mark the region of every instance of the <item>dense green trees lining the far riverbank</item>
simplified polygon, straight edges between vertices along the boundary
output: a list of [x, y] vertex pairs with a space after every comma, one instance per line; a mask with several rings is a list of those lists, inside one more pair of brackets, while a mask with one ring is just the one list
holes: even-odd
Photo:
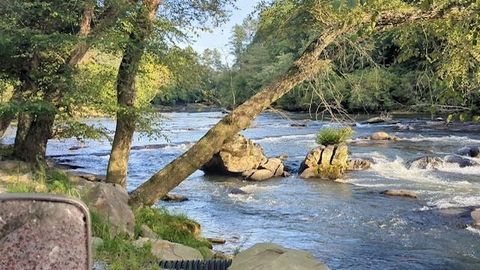
[[[309, 6], [297, 1], [260, 5], [233, 29], [226, 65], [216, 50], [190, 58], [184, 77], [161, 91], [157, 104], [204, 102], [235, 107], [282, 75], [321, 29]], [[448, 2], [448, 1], [447, 1]], [[478, 113], [480, 46], [465, 28], [438, 23], [412, 24], [373, 39], [340, 42], [329, 51], [334, 65], [275, 105], [287, 110], [348, 112], [407, 110]], [[355, 40], [355, 37], [353, 37]], [[341, 48], [341, 49], [339, 49]]]

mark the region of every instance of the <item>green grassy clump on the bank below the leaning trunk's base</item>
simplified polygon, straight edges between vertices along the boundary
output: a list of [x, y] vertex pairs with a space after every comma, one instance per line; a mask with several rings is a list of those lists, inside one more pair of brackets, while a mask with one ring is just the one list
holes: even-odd
[[198, 249], [204, 257], [211, 253], [210, 242], [198, 235], [200, 225], [185, 215], [171, 214], [162, 208], [144, 207], [135, 211], [135, 235], [140, 235], [142, 224], [164, 240]]

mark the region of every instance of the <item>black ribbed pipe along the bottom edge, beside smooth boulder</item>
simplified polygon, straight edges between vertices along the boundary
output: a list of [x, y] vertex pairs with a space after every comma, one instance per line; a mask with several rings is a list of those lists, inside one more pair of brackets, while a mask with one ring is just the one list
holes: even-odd
[[159, 265], [168, 270], [227, 270], [232, 260], [161, 261]]

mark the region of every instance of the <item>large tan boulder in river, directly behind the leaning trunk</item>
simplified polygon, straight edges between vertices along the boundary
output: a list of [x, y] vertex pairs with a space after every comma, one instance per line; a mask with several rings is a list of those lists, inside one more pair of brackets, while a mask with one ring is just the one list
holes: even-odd
[[206, 173], [238, 174], [253, 181], [284, 175], [280, 158], [267, 158], [260, 145], [242, 135], [228, 140], [202, 170]]

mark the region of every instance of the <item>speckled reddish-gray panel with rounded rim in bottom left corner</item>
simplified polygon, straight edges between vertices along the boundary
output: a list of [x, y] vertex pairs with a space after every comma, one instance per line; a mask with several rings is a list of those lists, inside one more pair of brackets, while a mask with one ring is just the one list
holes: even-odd
[[90, 215], [51, 194], [0, 194], [0, 269], [91, 269]]

